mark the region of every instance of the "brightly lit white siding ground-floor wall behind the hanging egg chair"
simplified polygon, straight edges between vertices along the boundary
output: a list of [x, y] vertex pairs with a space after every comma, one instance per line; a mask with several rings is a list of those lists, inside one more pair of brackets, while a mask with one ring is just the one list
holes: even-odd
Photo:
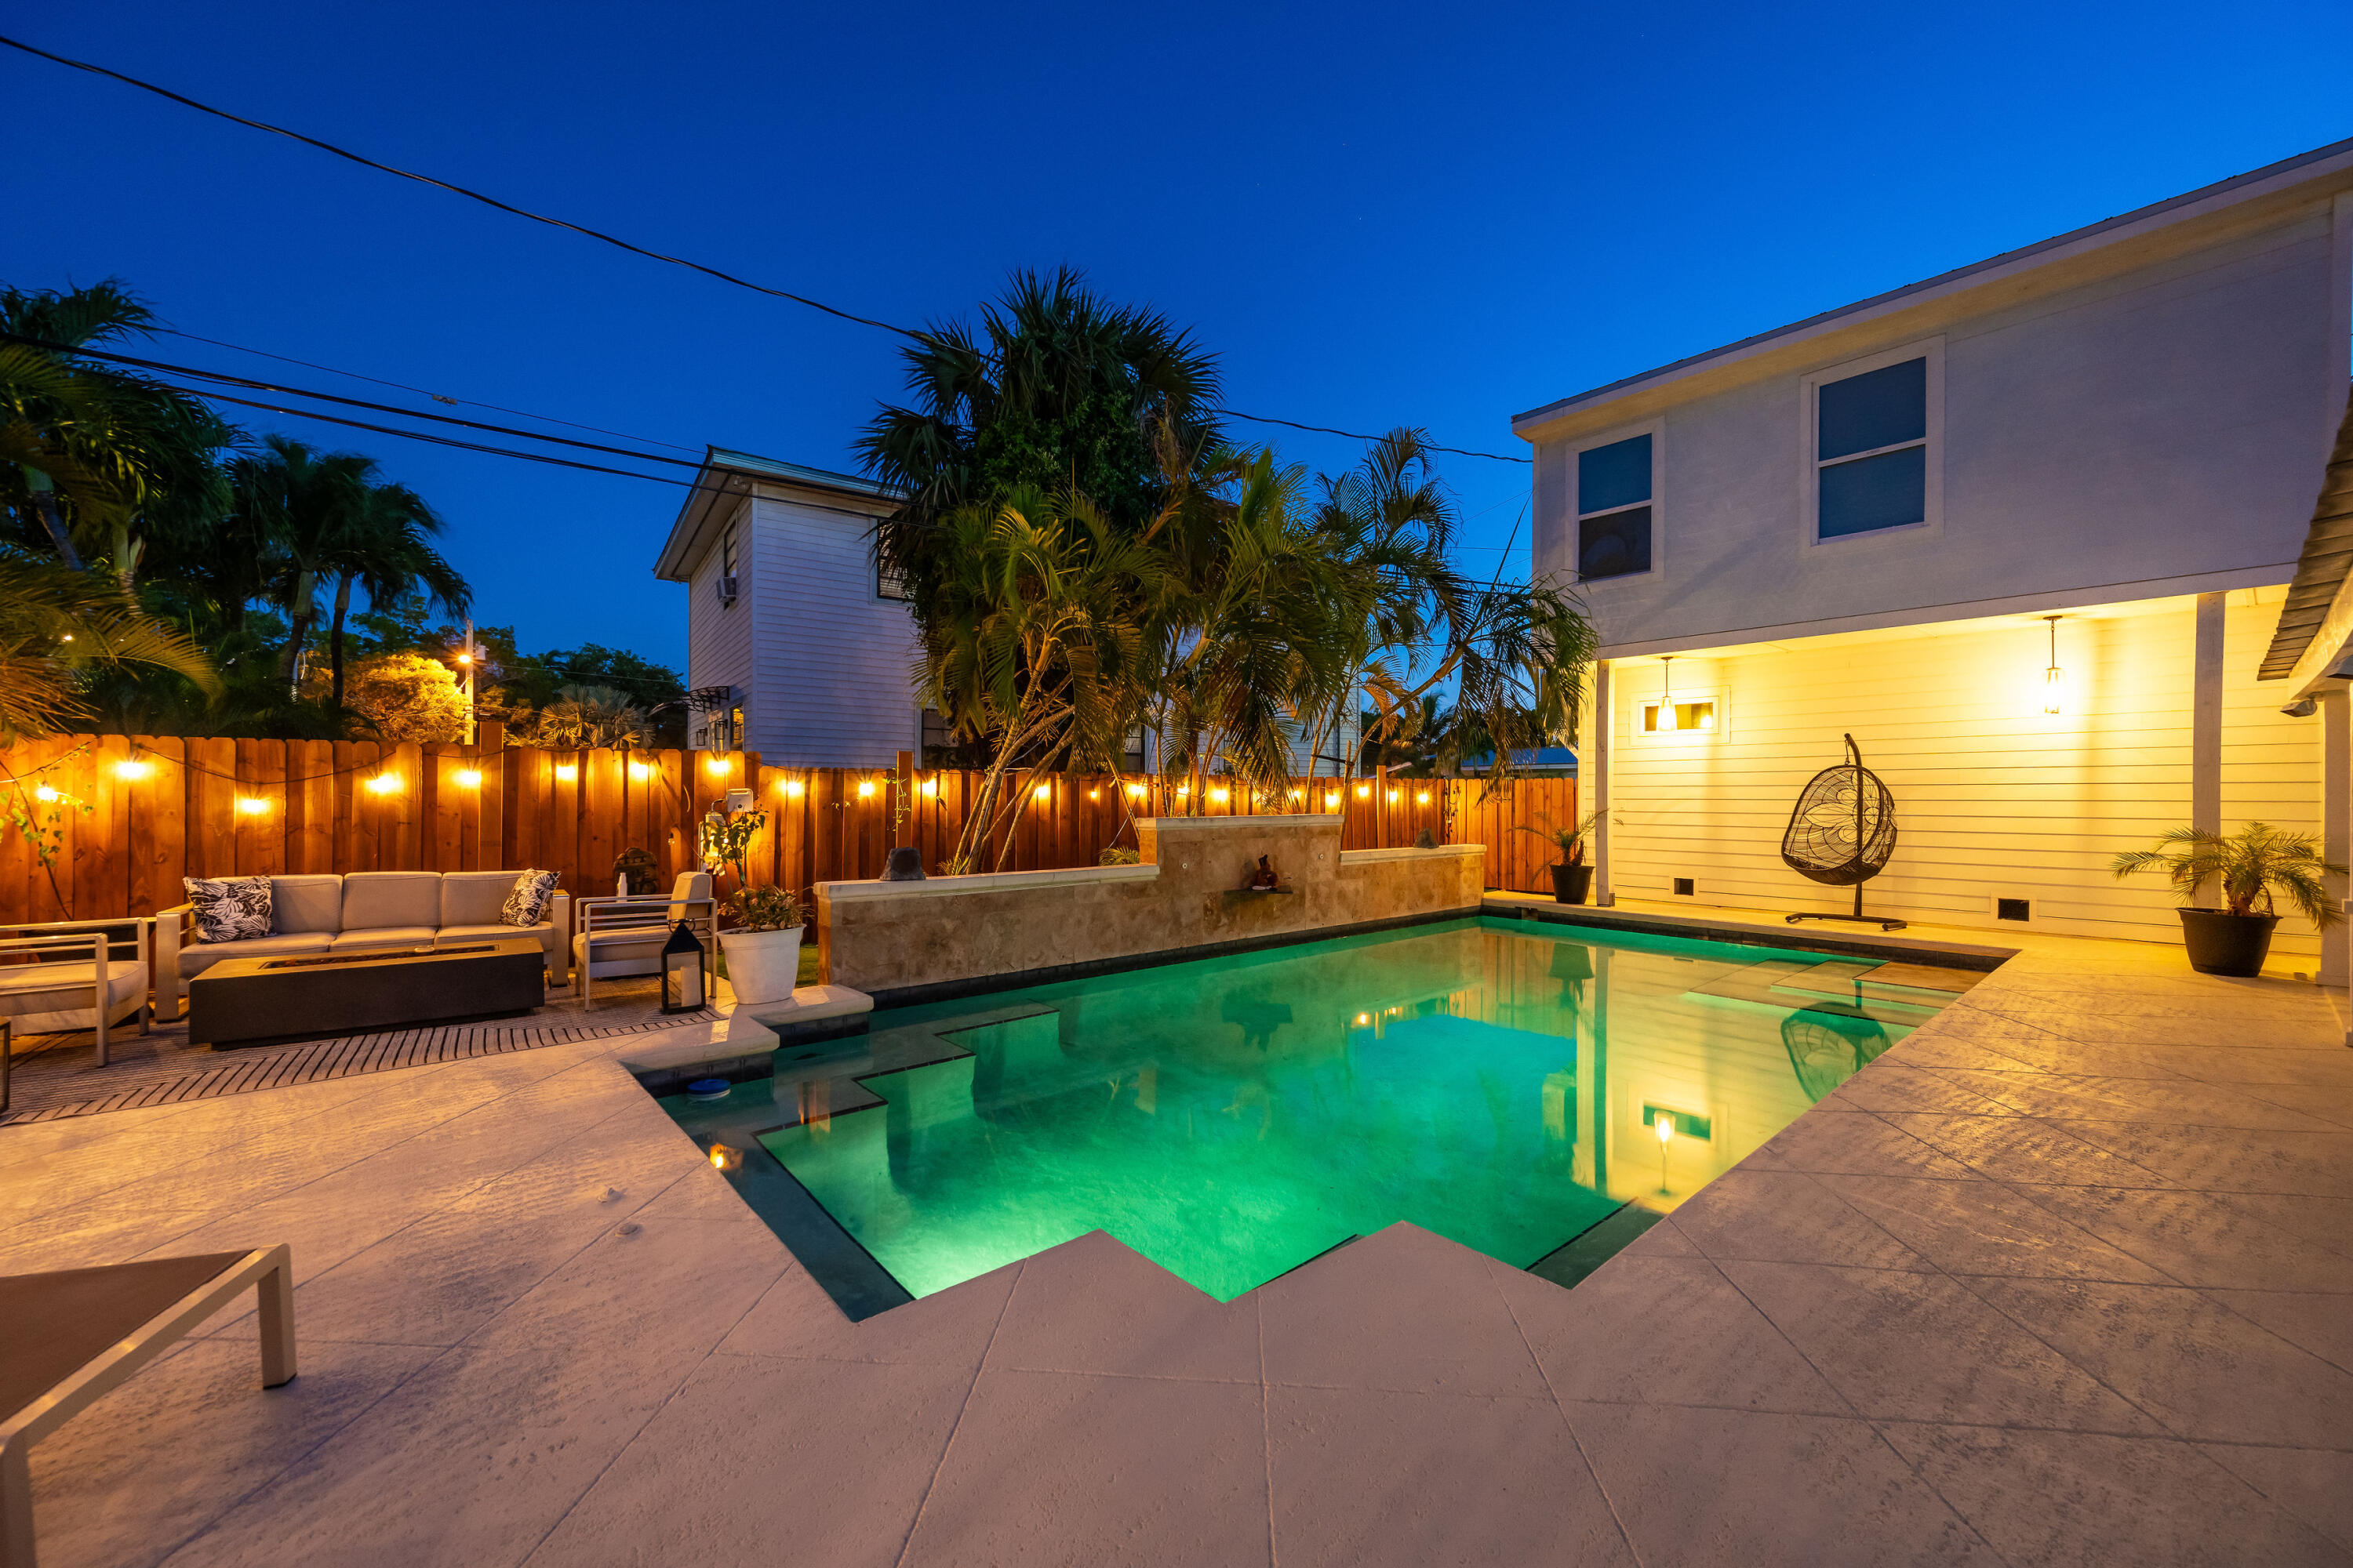
[[[1659, 661], [1617, 663], [1617, 891], [1664, 900], [1673, 877], [1692, 877], [1697, 905], [1847, 907], [1847, 889], [1781, 863], [1781, 830], [1852, 731], [1897, 797], [1897, 856], [1864, 884], [1868, 912], [2002, 929], [1991, 900], [2005, 896], [2033, 900], [2033, 929], [2179, 940], [2165, 884], [2120, 884], [2106, 863], [2188, 823], [2195, 609], [2111, 609], [2134, 614], [2059, 623], [2059, 717], [2042, 712], [2047, 632], [2024, 616], [1675, 658], [1678, 701], [1718, 701], [1713, 736], [1645, 741]], [[2247, 818], [2320, 825], [2320, 719], [2280, 715], [2285, 686], [2254, 679], [2278, 614], [2280, 590], [2233, 592], [2226, 611], [2226, 832]], [[2318, 952], [2304, 922], [2282, 924], [2278, 947]]]

